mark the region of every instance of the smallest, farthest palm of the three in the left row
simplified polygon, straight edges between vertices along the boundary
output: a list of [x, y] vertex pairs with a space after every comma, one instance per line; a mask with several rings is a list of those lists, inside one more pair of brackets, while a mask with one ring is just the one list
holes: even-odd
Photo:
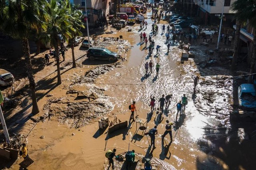
[[81, 36], [82, 32], [80, 31], [81, 28], [85, 28], [82, 22], [82, 12], [81, 10], [77, 10], [75, 6], [71, 7], [71, 14], [70, 14], [70, 22], [72, 27], [70, 27], [71, 33], [71, 50], [72, 50], [72, 61], [73, 61], [73, 68], [76, 67], [76, 59], [75, 59], [75, 52], [74, 52], [74, 42], [76, 36]]

